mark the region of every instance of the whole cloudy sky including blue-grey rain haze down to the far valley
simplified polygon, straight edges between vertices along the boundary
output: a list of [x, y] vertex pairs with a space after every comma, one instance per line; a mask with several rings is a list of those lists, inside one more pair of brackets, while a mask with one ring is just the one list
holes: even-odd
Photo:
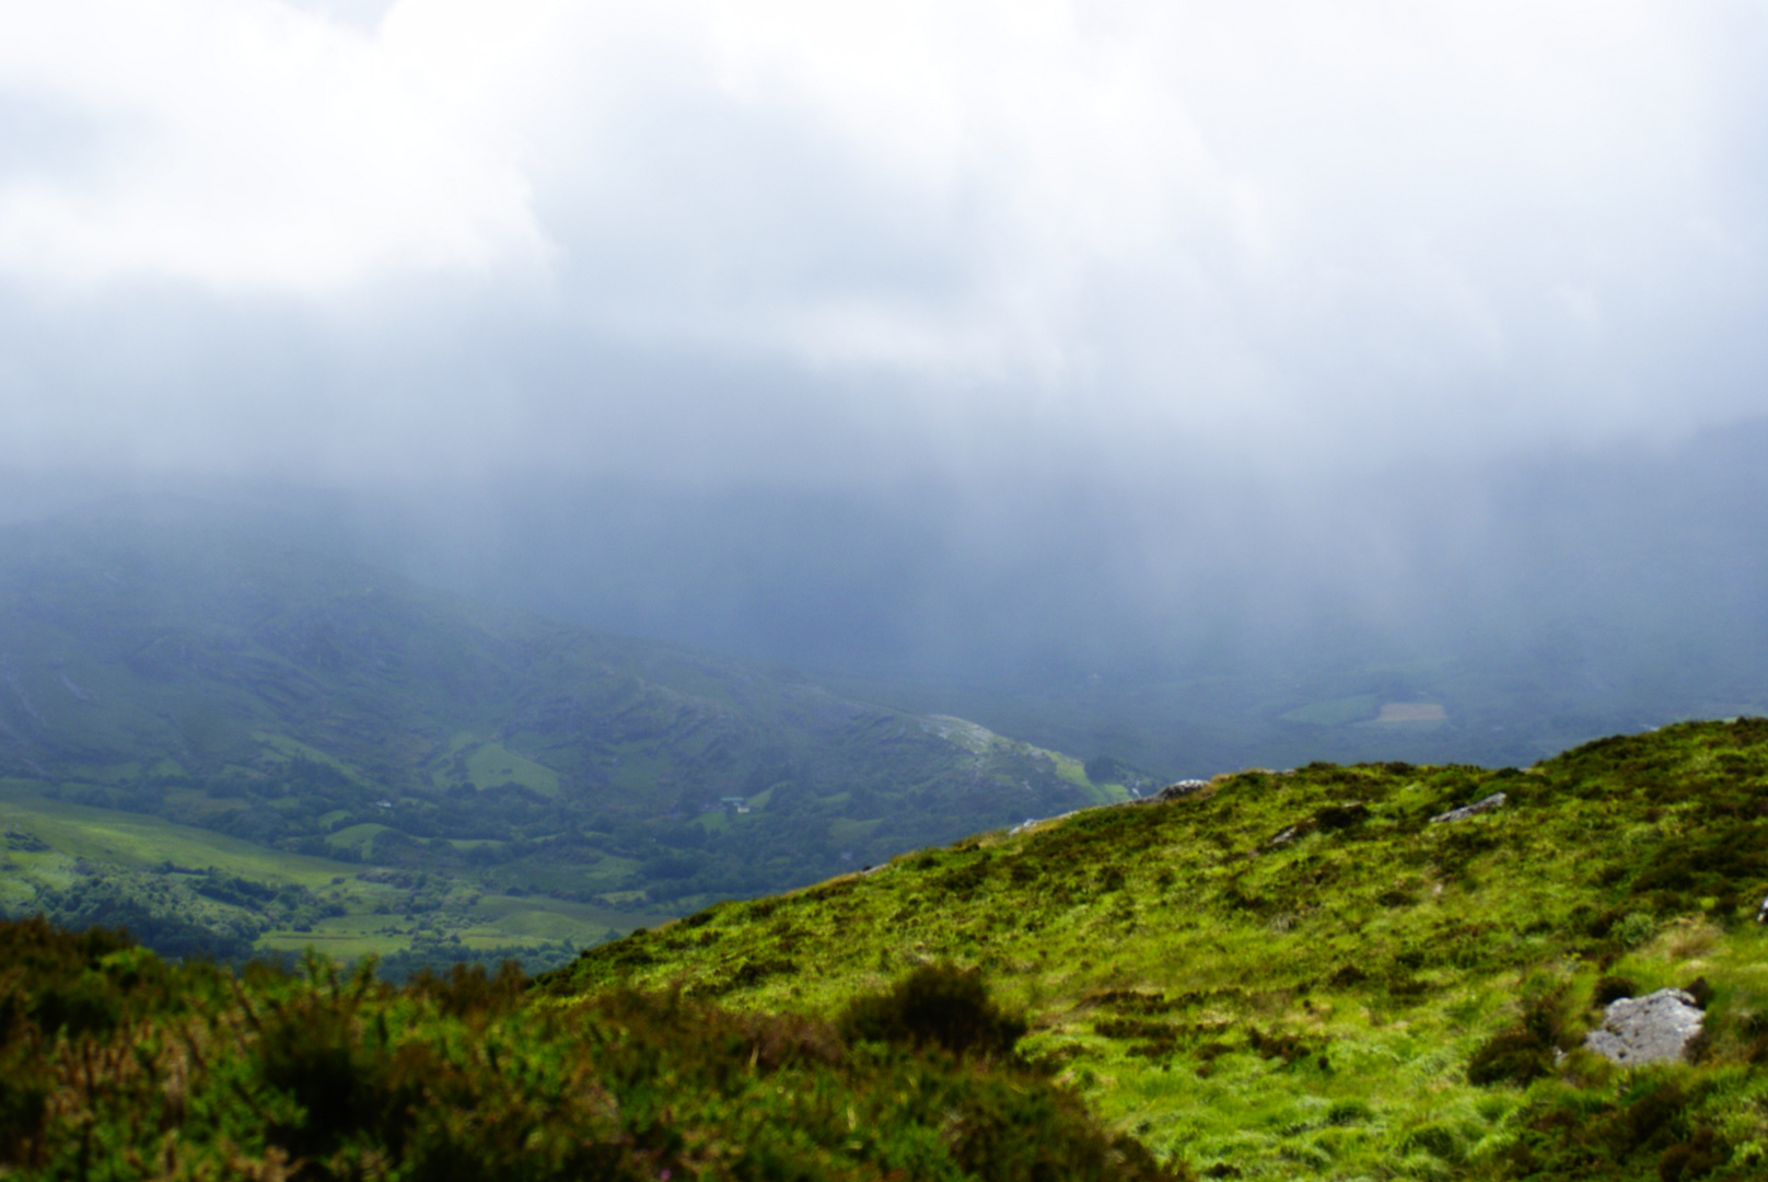
[[325, 490], [833, 664], [1487, 635], [1650, 518], [1627, 600], [1665, 503], [1747, 616], [1703, 457], [1768, 416], [1764, 51], [1745, 2], [0, 0], [0, 471]]

